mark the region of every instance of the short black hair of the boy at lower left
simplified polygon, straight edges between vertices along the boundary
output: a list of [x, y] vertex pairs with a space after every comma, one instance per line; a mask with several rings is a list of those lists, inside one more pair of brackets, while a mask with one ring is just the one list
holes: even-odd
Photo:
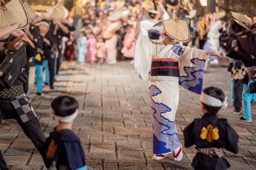
[[72, 115], [78, 109], [78, 102], [72, 96], [58, 96], [51, 102], [51, 108], [56, 116], [65, 117]]

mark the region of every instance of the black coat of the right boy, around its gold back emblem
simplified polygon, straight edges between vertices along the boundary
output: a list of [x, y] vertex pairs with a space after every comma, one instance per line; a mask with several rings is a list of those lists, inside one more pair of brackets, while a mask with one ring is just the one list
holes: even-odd
[[[207, 129], [211, 124], [212, 128], [218, 129], [219, 137], [211, 142], [201, 138], [201, 131]], [[216, 130], [215, 129], [215, 130]], [[184, 129], [185, 147], [196, 145], [199, 148], [216, 147], [225, 148], [226, 150], [238, 153], [238, 134], [227, 123], [227, 119], [218, 118], [215, 115], [204, 114], [202, 118], [194, 121]], [[194, 169], [227, 169], [230, 164], [225, 158], [208, 157], [203, 153], [197, 153], [193, 158], [192, 167]]]

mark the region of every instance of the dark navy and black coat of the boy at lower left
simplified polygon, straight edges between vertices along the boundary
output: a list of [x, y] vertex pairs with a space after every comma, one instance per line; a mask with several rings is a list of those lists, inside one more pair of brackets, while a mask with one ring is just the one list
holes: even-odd
[[51, 132], [46, 139], [45, 151], [47, 168], [52, 165], [52, 161], [57, 161], [57, 169], [60, 165], [70, 169], [85, 166], [85, 154], [80, 139], [69, 129]]

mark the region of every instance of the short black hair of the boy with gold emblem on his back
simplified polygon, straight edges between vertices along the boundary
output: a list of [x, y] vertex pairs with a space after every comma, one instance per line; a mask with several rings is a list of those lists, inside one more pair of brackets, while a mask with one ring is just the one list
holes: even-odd
[[[225, 101], [225, 94], [223, 90], [217, 87], [207, 87], [203, 90], [203, 93], [210, 95], [212, 97], [218, 98], [221, 102]], [[205, 109], [208, 111], [208, 114], [216, 115], [221, 107], [212, 107], [210, 105], [204, 104]]]

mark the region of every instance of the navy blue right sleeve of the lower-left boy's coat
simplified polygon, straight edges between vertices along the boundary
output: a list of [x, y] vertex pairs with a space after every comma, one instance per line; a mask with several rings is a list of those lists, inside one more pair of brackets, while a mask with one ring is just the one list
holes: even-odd
[[75, 170], [84, 167], [85, 155], [81, 143], [78, 141], [63, 141], [63, 145], [66, 148], [66, 153], [68, 154], [70, 169]]

